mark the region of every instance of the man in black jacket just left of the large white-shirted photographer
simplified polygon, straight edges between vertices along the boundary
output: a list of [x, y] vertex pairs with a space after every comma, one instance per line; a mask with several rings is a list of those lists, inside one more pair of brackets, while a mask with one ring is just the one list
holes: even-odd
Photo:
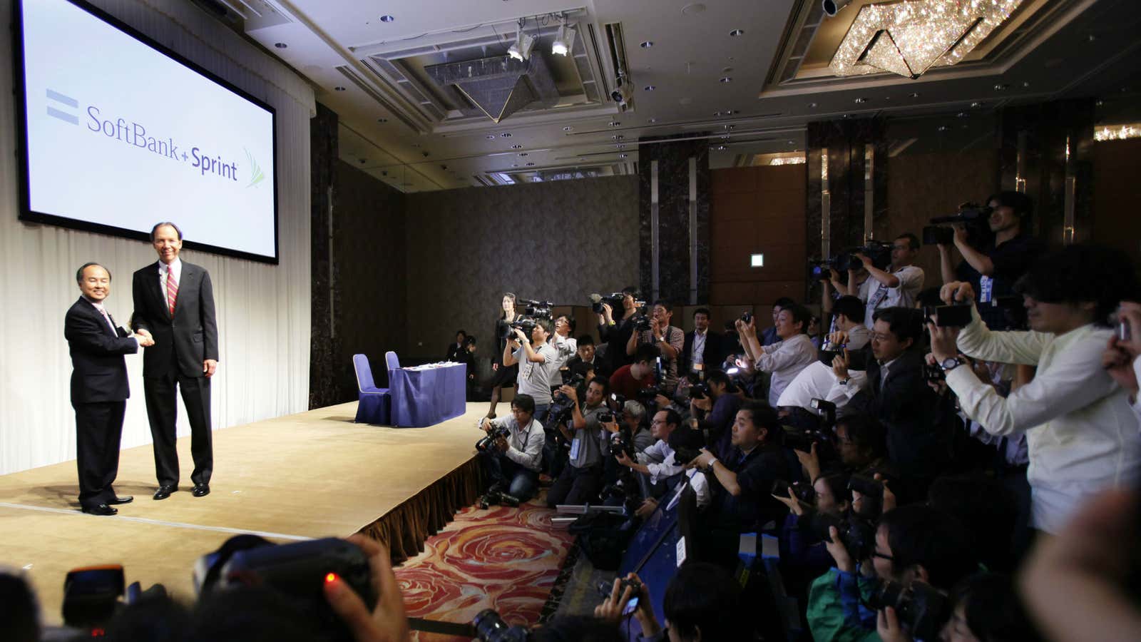
[[[883, 424], [888, 433], [888, 454], [908, 478], [914, 493], [926, 485], [948, 464], [949, 423], [953, 402], [940, 398], [923, 378], [922, 313], [909, 307], [888, 307], [875, 313], [872, 355], [866, 385], [853, 382], [861, 375], [848, 372], [843, 363], [834, 370], [843, 388], [851, 392], [853, 411], [866, 411]], [[855, 392], [863, 388], [860, 392]]]

